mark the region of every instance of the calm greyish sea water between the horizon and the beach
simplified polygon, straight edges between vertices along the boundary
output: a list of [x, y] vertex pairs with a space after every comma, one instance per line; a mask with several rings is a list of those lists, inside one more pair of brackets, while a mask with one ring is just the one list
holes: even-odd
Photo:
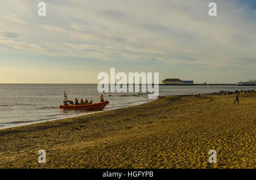
[[[237, 86], [159, 86], [159, 96], [196, 95], [218, 91], [255, 89]], [[97, 84], [0, 84], [0, 128], [22, 126], [30, 123], [52, 121], [60, 118], [75, 117], [86, 113], [84, 110], [61, 110], [63, 92], [69, 100], [87, 98], [100, 102]], [[134, 94], [136, 96], [134, 96]], [[125, 108], [146, 103], [148, 95], [138, 93], [103, 93], [110, 103], [104, 110]], [[110, 96], [111, 95], [111, 96]]]

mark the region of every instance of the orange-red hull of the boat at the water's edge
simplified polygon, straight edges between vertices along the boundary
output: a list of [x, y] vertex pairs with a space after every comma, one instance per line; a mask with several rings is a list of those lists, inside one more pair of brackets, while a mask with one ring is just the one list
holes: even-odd
[[102, 110], [108, 104], [109, 104], [109, 101], [104, 101], [104, 102], [98, 102], [95, 104], [60, 105], [59, 108], [64, 110]]

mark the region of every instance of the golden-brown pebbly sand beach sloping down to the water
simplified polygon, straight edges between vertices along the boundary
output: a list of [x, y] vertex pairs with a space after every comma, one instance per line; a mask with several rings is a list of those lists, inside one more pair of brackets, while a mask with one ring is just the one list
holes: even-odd
[[[256, 93], [147, 104], [0, 130], [0, 168], [256, 168]], [[38, 151], [46, 151], [46, 164]], [[217, 163], [208, 152], [215, 149]]]

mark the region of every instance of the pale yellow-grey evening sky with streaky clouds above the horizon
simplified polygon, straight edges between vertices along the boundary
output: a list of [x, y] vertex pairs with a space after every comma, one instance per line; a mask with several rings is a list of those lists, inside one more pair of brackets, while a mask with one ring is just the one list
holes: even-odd
[[98, 83], [111, 67], [159, 82], [247, 81], [255, 32], [253, 0], [1, 0], [0, 83]]

